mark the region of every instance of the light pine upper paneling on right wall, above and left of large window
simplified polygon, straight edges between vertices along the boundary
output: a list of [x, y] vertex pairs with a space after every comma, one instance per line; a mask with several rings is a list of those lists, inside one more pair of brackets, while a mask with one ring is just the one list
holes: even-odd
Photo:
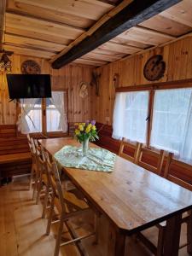
[[[143, 76], [143, 67], [148, 58], [155, 54], [163, 55], [166, 61], [166, 73], [159, 82], [175, 81], [192, 78], [192, 37], [183, 38], [164, 47], [145, 51], [141, 55], [134, 55], [122, 61], [116, 61], [98, 67], [101, 73], [100, 96], [92, 95], [96, 106], [92, 108], [92, 118], [102, 124], [112, 125], [113, 101], [115, 90], [113, 87], [113, 74], [119, 73], [119, 87], [139, 84], [149, 84]], [[151, 82], [152, 83], [152, 82]], [[108, 119], [109, 117], [109, 119]]]

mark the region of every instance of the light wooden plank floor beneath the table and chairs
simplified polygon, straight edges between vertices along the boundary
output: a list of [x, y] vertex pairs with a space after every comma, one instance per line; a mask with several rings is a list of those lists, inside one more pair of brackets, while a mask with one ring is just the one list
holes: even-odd
[[[0, 188], [0, 256], [52, 256], [54, 254], [56, 225], [53, 225], [50, 235], [45, 236], [47, 219], [41, 218], [41, 214], [42, 205], [35, 205], [32, 201], [32, 191], [28, 190], [26, 177], [17, 177], [12, 183]], [[92, 225], [92, 218], [88, 216], [83, 218], [90, 221], [90, 225], [84, 226], [84, 230], [88, 231]], [[77, 227], [78, 222], [79, 219], [74, 219]], [[84, 232], [84, 230], [79, 230], [79, 232]], [[183, 230], [181, 242], [185, 240], [185, 233]], [[66, 231], [65, 239], [67, 236], [69, 234]], [[103, 255], [103, 246], [94, 245], [93, 241], [94, 237], [84, 240], [88, 255], [108, 256]], [[151, 255], [138, 241], [132, 241], [129, 247], [131, 249], [129, 256]], [[79, 256], [80, 254], [74, 245], [68, 245], [61, 247], [61, 255]], [[186, 247], [179, 251], [179, 255], [189, 255], [186, 253]]]

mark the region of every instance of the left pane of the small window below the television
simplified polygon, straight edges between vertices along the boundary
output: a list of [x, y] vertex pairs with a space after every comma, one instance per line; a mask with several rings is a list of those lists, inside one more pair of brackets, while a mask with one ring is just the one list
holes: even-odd
[[42, 131], [42, 108], [41, 99], [25, 99], [22, 105], [22, 112], [25, 113], [26, 123], [29, 132]]

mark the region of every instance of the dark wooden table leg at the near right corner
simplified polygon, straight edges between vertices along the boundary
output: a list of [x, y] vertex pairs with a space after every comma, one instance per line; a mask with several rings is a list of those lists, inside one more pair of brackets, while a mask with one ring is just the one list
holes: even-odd
[[182, 215], [177, 214], [166, 220], [164, 256], [177, 256], [181, 233]]

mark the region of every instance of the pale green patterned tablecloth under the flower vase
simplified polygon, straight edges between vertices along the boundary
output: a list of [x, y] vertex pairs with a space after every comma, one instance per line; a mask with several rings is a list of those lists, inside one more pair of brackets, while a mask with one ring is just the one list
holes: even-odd
[[116, 154], [104, 148], [89, 148], [88, 154], [83, 156], [81, 147], [65, 146], [54, 157], [60, 166], [112, 172]]

